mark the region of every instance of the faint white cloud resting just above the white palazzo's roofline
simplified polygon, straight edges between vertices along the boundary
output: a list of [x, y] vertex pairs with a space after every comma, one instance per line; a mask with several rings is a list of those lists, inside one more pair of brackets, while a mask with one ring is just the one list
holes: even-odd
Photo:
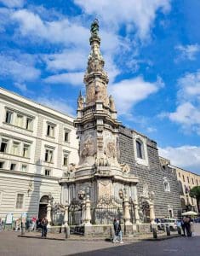
[[62, 113], [66, 113], [66, 114], [70, 114], [75, 116], [75, 109], [73, 109], [71, 107], [71, 105], [69, 105], [66, 101], [64, 101], [61, 98], [51, 98], [51, 97], [45, 97], [45, 96], [40, 96], [37, 97], [36, 99], [37, 102], [40, 102], [41, 104], [49, 107], [49, 108], [53, 108], [56, 109]]

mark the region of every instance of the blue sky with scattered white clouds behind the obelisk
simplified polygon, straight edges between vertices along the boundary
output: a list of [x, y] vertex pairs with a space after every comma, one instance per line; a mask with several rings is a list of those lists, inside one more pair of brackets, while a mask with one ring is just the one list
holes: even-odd
[[76, 114], [100, 21], [118, 119], [200, 173], [200, 1], [0, 0], [0, 86]]

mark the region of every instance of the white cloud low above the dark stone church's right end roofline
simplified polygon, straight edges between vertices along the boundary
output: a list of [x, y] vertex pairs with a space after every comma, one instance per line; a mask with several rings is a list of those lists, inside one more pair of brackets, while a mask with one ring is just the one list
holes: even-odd
[[172, 165], [200, 174], [200, 147], [185, 145], [158, 149], [159, 155], [169, 159]]

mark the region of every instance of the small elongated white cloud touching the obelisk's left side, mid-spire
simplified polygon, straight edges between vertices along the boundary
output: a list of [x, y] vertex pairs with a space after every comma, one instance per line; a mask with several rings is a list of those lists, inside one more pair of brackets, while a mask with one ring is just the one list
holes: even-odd
[[81, 85], [83, 84], [82, 72], [74, 73], [60, 73], [56, 75], [49, 76], [44, 79], [45, 83], [49, 84], [71, 84], [71, 85]]

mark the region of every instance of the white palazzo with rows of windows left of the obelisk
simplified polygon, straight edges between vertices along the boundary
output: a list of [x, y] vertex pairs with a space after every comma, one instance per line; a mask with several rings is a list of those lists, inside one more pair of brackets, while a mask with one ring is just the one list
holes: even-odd
[[0, 88], [0, 218], [43, 217], [51, 194], [77, 163], [73, 118]]

